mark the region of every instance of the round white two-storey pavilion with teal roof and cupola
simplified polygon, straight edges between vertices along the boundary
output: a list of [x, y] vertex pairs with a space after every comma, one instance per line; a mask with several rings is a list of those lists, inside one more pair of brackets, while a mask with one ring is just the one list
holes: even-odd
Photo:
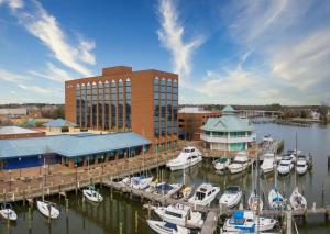
[[245, 151], [255, 141], [254, 127], [249, 119], [241, 119], [227, 105], [221, 118], [210, 118], [201, 127], [200, 138], [215, 151]]

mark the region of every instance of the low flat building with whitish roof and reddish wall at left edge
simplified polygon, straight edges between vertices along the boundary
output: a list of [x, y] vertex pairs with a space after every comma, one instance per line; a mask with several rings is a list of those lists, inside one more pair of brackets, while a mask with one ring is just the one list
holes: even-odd
[[[26, 138], [45, 136], [44, 132], [28, 130], [19, 126], [0, 126], [0, 140], [3, 138]], [[0, 149], [1, 154], [1, 149]]]

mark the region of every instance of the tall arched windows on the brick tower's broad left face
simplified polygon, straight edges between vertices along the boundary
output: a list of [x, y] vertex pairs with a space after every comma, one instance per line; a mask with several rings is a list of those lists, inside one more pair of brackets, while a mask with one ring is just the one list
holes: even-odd
[[76, 122], [82, 127], [131, 127], [131, 80], [76, 87]]

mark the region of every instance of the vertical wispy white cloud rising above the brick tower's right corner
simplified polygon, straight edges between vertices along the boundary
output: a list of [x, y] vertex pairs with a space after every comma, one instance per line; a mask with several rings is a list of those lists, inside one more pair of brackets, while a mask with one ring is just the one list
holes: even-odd
[[161, 0], [158, 12], [162, 24], [162, 29], [157, 31], [158, 38], [172, 53], [175, 73], [180, 78], [187, 78], [191, 71], [191, 55], [202, 44], [202, 37], [184, 42], [184, 26], [178, 21], [178, 12], [172, 0]]

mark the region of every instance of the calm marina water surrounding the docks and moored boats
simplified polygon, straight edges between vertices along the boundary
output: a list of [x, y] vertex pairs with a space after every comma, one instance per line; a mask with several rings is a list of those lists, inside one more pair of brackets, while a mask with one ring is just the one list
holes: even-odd
[[[311, 127], [296, 127], [276, 124], [257, 124], [255, 125], [258, 141], [271, 133], [275, 138], [285, 141], [284, 151], [295, 148], [296, 133], [298, 135], [298, 148], [306, 155], [309, 153], [314, 156], [314, 169], [302, 177], [297, 177], [297, 186], [307, 197], [309, 207], [316, 202], [317, 207], [330, 204], [330, 169], [328, 168], [327, 156], [330, 155], [330, 126], [314, 125]], [[176, 182], [183, 181], [183, 171], [170, 172], [162, 169], [164, 179]], [[186, 171], [186, 181], [191, 185], [199, 185], [204, 181], [212, 182], [223, 191], [228, 185], [239, 185], [245, 191], [245, 200], [252, 189], [251, 171], [244, 175], [229, 176], [217, 175], [209, 161], [190, 168]], [[274, 185], [274, 175], [268, 175], [261, 181], [262, 191], [267, 193]], [[295, 185], [295, 176], [292, 174], [286, 177], [278, 177], [278, 187], [283, 194], [289, 196]], [[322, 193], [323, 187], [323, 193]], [[28, 207], [18, 203], [14, 209], [18, 212], [19, 220], [16, 223], [8, 226], [7, 222], [1, 220], [0, 233], [154, 233], [146, 225], [145, 219], [147, 211], [142, 208], [138, 198], [130, 199], [125, 194], [116, 192], [109, 188], [100, 188], [105, 201], [99, 204], [85, 202], [82, 205], [81, 193], [76, 196], [69, 194], [69, 211], [65, 211], [64, 199], [57, 197], [50, 200], [59, 203], [62, 215], [58, 220], [48, 224], [47, 220], [41, 215], [37, 209], [31, 212], [32, 219], [29, 218]], [[112, 194], [112, 196], [111, 196]], [[220, 194], [218, 196], [218, 198]], [[212, 204], [217, 205], [218, 200]], [[138, 223], [135, 214], [138, 212]], [[156, 218], [151, 213], [152, 218]], [[296, 220], [299, 233], [330, 233], [330, 221], [326, 221], [323, 215], [309, 216], [305, 222]]]

